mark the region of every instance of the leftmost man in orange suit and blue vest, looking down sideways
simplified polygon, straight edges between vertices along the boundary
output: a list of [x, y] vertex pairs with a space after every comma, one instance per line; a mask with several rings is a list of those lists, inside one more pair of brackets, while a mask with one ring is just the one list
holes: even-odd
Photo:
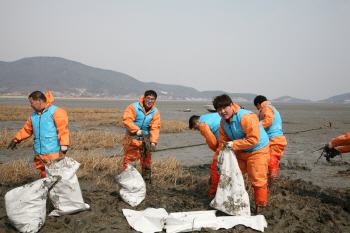
[[49, 91], [44, 95], [40, 91], [28, 97], [34, 112], [23, 128], [15, 135], [7, 149], [16, 149], [17, 144], [34, 134], [34, 165], [41, 170], [45, 178], [45, 164], [53, 159], [65, 156], [69, 146], [67, 112], [52, 105], [54, 99]]

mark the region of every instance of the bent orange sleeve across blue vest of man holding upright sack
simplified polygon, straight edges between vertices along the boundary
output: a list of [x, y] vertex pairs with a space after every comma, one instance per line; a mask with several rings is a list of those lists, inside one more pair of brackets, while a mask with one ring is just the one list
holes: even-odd
[[241, 126], [246, 137], [233, 141], [235, 150], [245, 150], [256, 146], [260, 140], [259, 119], [254, 113], [245, 114], [241, 118]]

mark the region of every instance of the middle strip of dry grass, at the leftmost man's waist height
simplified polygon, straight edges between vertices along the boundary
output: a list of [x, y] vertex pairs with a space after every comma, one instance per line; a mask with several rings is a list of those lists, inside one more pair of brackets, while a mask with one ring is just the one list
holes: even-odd
[[[0, 147], [7, 147], [17, 132], [0, 131]], [[111, 148], [121, 144], [124, 140], [124, 133], [95, 131], [78, 131], [71, 132], [70, 149], [93, 149], [93, 148]], [[31, 138], [22, 141], [17, 147], [33, 147]]]

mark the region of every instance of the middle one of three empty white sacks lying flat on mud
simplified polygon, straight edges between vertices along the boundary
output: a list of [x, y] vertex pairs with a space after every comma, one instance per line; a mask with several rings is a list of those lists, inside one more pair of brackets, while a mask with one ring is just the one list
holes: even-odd
[[216, 210], [178, 212], [166, 219], [167, 233], [200, 231], [202, 227], [218, 229]]

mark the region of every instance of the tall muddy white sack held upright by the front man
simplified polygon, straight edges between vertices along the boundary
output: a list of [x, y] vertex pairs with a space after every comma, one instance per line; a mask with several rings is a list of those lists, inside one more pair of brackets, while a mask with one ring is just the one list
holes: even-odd
[[217, 166], [220, 169], [220, 180], [210, 206], [230, 215], [250, 216], [249, 195], [233, 151], [221, 150]]

